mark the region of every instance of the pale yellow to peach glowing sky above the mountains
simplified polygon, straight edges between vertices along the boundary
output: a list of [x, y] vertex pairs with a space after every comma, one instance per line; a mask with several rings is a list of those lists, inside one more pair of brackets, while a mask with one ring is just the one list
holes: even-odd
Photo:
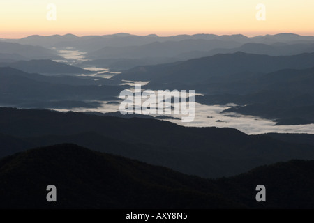
[[[260, 4], [264, 8], [256, 8]], [[66, 33], [314, 36], [313, 10], [313, 0], [1, 0], [0, 38]]]

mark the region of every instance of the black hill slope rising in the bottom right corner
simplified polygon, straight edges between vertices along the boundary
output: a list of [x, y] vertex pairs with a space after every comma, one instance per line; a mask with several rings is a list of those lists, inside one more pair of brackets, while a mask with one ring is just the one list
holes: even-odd
[[[314, 206], [314, 162], [291, 160], [257, 167], [248, 173], [218, 180], [220, 188], [232, 188], [235, 201], [246, 199], [251, 208], [312, 209]], [[230, 184], [229, 184], [230, 183]], [[255, 201], [256, 185], [266, 187], [266, 202]], [[254, 198], [253, 198], [254, 197]]]

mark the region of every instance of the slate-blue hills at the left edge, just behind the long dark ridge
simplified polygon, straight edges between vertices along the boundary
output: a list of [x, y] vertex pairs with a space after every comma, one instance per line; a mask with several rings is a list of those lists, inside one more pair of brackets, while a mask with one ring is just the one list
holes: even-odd
[[[30, 66], [30, 69], [34, 68]], [[121, 86], [112, 86], [107, 79], [45, 76], [10, 67], [0, 68], [1, 106], [54, 109], [99, 107], [97, 100], [107, 100], [119, 95], [122, 90]]]

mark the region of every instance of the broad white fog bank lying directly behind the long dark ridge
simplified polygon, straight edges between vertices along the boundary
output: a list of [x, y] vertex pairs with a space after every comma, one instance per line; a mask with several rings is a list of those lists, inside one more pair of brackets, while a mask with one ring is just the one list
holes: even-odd
[[[75, 108], [74, 112], [117, 112], [119, 111], [120, 103], [107, 104], [107, 102], [101, 102], [101, 106], [94, 109]], [[220, 128], [236, 128], [246, 134], [262, 134], [267, 132], [281, 132], [281, 133], [308, 133], [314, 134], [314, 124], [310, 125], [275, 125], [274, 121], [255, 117], [245, 116], [234, 113], [223, 113], [224, 109], [229, 108], [227, 105], [202, 105], [195, 102], [195, 118], [192, 122], [182, 122], [177, 119], [167, 119], [173, 123], [184, 126], [194, 127], [209, 127], [216, 126]], [[58, 111], [66, 112], [66, 109], [57, 109]], [[157, 115], [152, 115], [157, 116]], [[181, 118], [179, 115], [167, 115], [176, 118]]]

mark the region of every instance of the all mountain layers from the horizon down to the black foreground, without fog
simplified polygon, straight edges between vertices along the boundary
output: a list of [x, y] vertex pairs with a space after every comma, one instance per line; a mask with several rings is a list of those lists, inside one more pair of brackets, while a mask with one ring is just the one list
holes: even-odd
[[[86, 59], [63, 58], [61, 49]], [[102, 113], [133, 87], [127, 81], [195, 90], [202, 107], [229, 104], [225, 116], [313, 124], [314, 36], [1, 39], [0, 208], [314, 207], [313, 134], [249, 135]], [[50, 184], [57, 203], [45, 200]], [[267, 202], [255, 200], [257, 185]]]

